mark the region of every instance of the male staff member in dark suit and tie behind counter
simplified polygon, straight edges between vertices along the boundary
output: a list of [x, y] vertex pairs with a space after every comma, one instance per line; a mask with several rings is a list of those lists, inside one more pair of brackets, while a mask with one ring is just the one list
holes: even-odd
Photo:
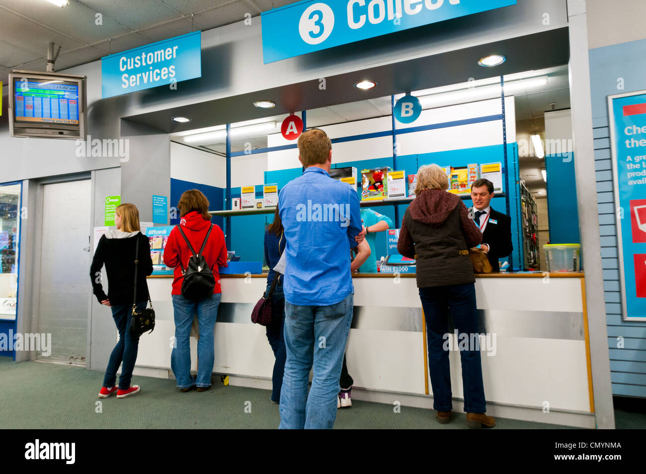
[[494, 183], [490, 180], [481, 178], [471, 185], [474, 222], [483, 233], [481, 248], [486, 252], [494, 272], [499, 272], [498, 259], [507, 257], [514, 250], [512, 219], [490, 206], [492, 197], [494, 197]]

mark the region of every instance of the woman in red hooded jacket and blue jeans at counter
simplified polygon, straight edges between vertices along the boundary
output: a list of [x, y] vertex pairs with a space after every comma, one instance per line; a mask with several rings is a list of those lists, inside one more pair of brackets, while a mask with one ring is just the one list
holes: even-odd
[[[177, 387], [182, 392], [189, 391], [193, 386], [198, 392], [211, 387], [213, 374], [214, 349], [213, 328], [220, 305], [220, 272], [218, 266], [227, 266], [227, 246], [224, 233], [220, 227], [211, 224], [209, 200], [198, 189], [189, 189], [182, 194], [178, 204], [180, 208], [180, 226], [195, 252], [200, 252], [202, 244], [205, 257], [213, 276], [215, 287], [213, 295], [204, 299], [187, 299], [182, 296], [183, 273], [182, 267], [188, 268], [189, 258], [193, 252], [189, 249], [180, 226], [176, 226], [169, 235], [163, 252], [163, 260], [167, 266], [174, 267], [172, 281], [172, 307], [175, 318], [175, 343], [171, 353], [171, 368], [175, 374]], [[211, 232], [209, 233], [209, 228]], [[198, 315], [200, 338], [198, 339], [198, 374], [191, 376], [191, 347], [189, 336], [194, 314]]]

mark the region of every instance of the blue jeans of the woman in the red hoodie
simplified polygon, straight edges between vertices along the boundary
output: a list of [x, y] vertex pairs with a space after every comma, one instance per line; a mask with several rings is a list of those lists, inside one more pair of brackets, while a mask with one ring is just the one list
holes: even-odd
[[[172, 295], [175, 318], [175, 343], [171, 352], [171, 369], [175, 374], [177, 387], [187, 389], [211, 386], [211, 374], [215, 361], [213, 348], [213, 328], [218, 316], [221, 293], [210, 298], [186, 299], [182, 295]], [[200, 338], [198, 339], [198, 376], [191, 376], [191, 325], [195, 313], [198, 314]]]

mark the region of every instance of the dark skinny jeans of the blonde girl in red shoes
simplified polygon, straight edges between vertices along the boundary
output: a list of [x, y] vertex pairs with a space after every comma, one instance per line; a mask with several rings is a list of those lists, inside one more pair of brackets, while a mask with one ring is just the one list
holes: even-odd
[[[143, 310], [148, 301], [137, 303], [137, 310]], [[132, 380], [132, 370], [137, 360], [137, 350], [139, 349], [139, 336], [130, 332], [130, 316], [132, 316], [132, 305], [116, 305], [110, 307], [112, 310], [112, 319], [119, 330], [119, 341], [112, 349], [108, 367], [105, 369], [103, 377], [103, 387], [114, 387], [117, 380], [117, 371], [121, 362], [121, 376], [119, 377], [119, 389], [127, 390], [130, 388]]]

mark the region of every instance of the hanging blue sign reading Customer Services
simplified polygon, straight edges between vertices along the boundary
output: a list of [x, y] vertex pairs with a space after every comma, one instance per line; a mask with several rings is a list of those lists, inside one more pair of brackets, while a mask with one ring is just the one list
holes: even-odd
[[101, 97], [120, 96], [202, 76], [202, 32], [101, 58]]

